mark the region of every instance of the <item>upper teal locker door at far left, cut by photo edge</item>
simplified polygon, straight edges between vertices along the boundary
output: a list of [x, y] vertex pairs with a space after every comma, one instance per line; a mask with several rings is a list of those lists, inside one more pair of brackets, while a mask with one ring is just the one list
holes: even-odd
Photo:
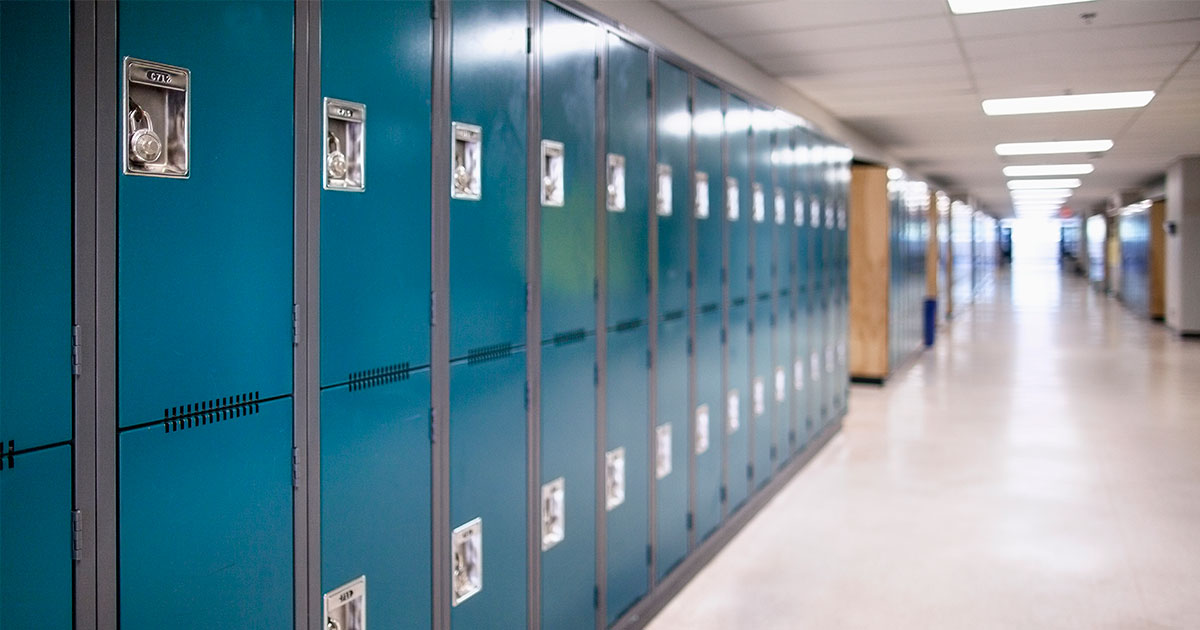
[[70, 11], [0, 4], [0, 444], [18, 451], [72, 436]]

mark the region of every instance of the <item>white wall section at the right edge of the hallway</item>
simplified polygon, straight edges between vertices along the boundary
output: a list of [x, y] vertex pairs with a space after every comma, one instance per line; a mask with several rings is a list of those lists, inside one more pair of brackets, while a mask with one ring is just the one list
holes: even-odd
[[1166, 325], [1200, 332], [1200, 156], [1166, 169]]

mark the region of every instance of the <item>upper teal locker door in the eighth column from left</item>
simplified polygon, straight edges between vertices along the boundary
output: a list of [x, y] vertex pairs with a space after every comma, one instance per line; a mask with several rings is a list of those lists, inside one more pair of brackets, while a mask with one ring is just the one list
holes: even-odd
[[[721, 90], [704, 82], [695, 82], [696, 173], [692, 178], [697, 203], [691, 209], [696, 217], [696, 306], [720, 307], [724, 262], [721, 242], [725, 223], [725, 182], [721, 166]], [[704, 192], [707, 191], [707, 194]], [[719, 365], [719, 362], [718, 362]]]

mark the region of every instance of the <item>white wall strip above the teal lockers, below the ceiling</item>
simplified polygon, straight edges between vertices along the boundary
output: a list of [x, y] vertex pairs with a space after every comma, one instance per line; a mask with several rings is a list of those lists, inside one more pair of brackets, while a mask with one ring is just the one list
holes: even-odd
[[844, 125], [833, 113], [786, 83], [770, 77], [758, 66], [725, 48], [662, 6], [649, 0], [582, 1], [628, 30], [704, 68], [746, 94], [804, 118], [833, 139], [850, 145], [856, 156], [905, 168], [904, 163], [893, 160], [870, 138]]

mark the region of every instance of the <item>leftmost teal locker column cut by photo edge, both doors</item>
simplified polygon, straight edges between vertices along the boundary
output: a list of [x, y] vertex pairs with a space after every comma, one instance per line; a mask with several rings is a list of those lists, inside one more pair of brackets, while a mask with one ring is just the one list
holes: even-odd
[[72, 622], [71, 74], [70, 5], [0, 2], [0, 628]]

